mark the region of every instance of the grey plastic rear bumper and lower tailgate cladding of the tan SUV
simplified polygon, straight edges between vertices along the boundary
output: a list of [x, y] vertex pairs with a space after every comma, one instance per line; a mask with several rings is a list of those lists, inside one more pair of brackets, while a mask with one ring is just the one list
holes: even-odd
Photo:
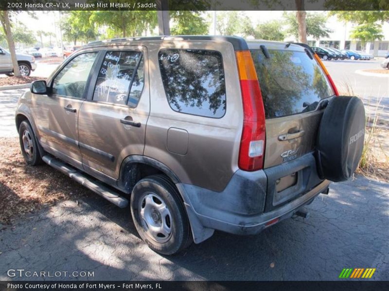
[[[277, 193], [277, 179], [290, 173], [298, 173], [300, 180], [296, 186]], [[179, 184], [178, 189], [183, 195], [194, 239], [198, 243], [207, 238], [196, 234], [201, 232], [201, 227], [239, 235], [257, 234], [267, 227], [266, 223], [291, 217], [329, 184], [330, 181], [318, 178], [316, 161], [311, 153], [265, 170], [238, 170], [222, 192], [189, 184]], [[278, 200], [280, 194], [286, 197], [282, 203]], [[196, 235], [200, 239], [196, 239]]]

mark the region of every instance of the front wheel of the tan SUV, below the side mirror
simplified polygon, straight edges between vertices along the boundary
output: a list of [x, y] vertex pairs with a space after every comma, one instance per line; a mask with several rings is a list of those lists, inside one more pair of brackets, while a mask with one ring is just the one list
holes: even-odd
[[42, 164], [34, 131], [27, 121], [23, 121], [19, 126], [19, 142], [21, 153], [27, 164], [30, 166]]

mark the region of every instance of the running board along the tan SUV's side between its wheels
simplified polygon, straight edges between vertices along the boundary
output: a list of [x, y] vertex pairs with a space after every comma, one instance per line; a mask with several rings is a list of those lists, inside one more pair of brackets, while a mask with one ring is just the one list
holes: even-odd
[[114, 190], [109, 189], [104, 186], [103, 183], [85, 176], [82, 172], [74, 169], [70, 165], [54, 158], [51, 155], [46, 155], [42, 157], [43, 162], [52, 166], [53, 168], [61, 171], [65, 175], [68, 175], [70, 178], [76, 180], [81, 185], [87, 187], [89, 190], [99, 194], [109, 202], [115, 204], [120, 208], [125, 208], [128, 206], [128, 199], [122, 197], [119, 193]]

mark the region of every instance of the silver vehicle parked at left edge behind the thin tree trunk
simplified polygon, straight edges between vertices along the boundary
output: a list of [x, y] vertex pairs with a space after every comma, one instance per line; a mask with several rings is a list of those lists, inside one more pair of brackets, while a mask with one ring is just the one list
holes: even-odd
[[[22, 76], [30, 76], [31, 71], [35, 71], [35, 57], [28, 54], [17, 53], [19, 71]], [[12, 67], [11, 53], [0, 47], [0, 74], [13, 76], [14, 69]]]

